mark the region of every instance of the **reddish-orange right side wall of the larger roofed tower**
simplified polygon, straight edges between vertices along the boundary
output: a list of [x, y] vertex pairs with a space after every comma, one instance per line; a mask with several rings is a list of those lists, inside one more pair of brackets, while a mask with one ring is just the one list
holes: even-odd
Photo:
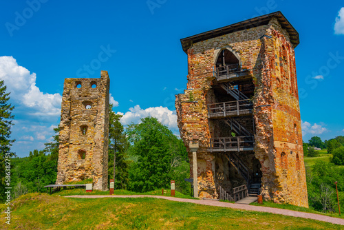
[[270, 21], [270, 32], [276, 169], [273, 199], [275, 202], [308, 207], [294, 49], [277, 20]]

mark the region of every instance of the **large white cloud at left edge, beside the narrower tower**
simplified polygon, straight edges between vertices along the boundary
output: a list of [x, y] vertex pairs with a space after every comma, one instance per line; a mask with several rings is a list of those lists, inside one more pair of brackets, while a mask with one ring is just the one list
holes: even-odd
[[61, 114], [61, 94], [47, 94], [36, 87], [36, 74], [18, 65], [12, 56], [0, 56], [0, 79], [5, 81], [12, 100], [28, 108], [35, 116]]

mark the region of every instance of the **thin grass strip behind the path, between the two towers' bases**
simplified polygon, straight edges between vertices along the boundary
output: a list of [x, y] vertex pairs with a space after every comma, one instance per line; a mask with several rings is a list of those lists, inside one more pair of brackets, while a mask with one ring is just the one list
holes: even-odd
[[[52, 196], [72, 196], [72, 195], [109, 195], [109, 191], [92, 191], [87, 193], [85, 189], [63, 189], [61, 191], [55, 191], [52, 193]], [[137, 193], [134, 191], [127, 191], [124, 189], [116, 189], [114, 190], [114, 195], [153, 195], [153, 196], [162, 196], [162, 189], [156, 189], [154, 191], [148, 191], [145, 193]], [[164, 189], [164, 196], [171, 196], [171, 190]], [[187, 198], [187, 199], [198, 199], [193, 198], [188, 195], [184, 195], [179, 191], [175, 191], [175, 197], [177, 198]]]

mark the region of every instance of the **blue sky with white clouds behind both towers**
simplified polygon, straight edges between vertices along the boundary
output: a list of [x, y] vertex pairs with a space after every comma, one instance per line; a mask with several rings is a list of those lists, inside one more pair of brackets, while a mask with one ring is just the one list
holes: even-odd
[[12, 92], [12, 150], [51, 140], [65, 78], [107, 70], [123, 123], [155, 116], [178, 134], [174, 95], [186, 87], [180, 39], [280, 10], [299, 32], [303, 139], [344, 135], [343, 1], [1, 1], [0, 79]]

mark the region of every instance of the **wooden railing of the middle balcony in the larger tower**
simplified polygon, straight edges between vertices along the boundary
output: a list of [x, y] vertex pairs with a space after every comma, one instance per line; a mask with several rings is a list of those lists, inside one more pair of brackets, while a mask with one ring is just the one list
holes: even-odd
[[208, 118], [251, 114], [252, 107], [253, 105], [249, 99], [208, 104]]

